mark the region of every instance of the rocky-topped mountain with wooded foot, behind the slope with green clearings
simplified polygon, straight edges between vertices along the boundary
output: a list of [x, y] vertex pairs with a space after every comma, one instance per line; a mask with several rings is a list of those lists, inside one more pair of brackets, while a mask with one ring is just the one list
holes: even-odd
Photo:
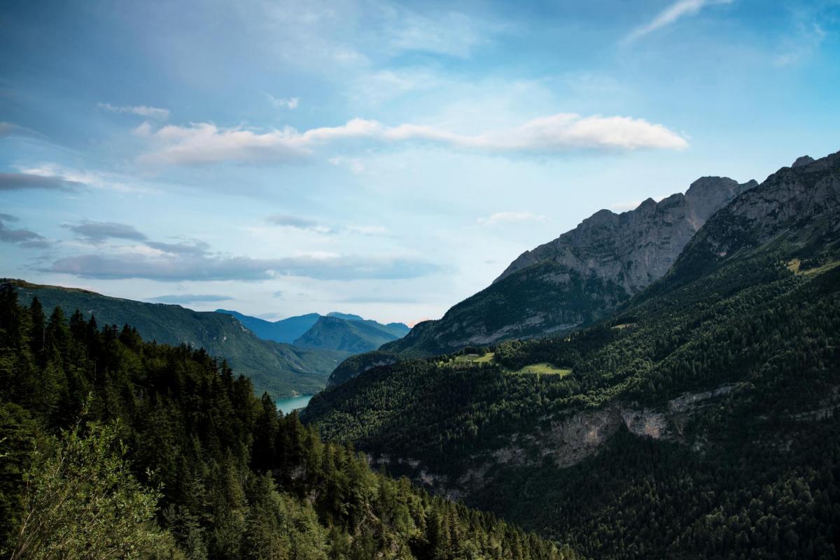
[[569, 331], [603, 319], [662, 277], [706, 220], [756, 186], [703, 177], [685, 194], [635, 210], [601, 210], [554, 241], [522, 253], [490, 287], [443, 319], [415, 325], [380, 350], [408, 357], [442, 354]]

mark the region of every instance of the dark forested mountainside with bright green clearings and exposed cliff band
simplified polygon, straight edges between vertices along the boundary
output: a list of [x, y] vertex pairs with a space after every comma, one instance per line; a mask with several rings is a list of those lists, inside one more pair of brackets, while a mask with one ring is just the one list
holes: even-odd
[[833, 154], [740, 194], [611, 319], [372, 367], [303, 418], [589, 557], [833, 558], [838, 290]]

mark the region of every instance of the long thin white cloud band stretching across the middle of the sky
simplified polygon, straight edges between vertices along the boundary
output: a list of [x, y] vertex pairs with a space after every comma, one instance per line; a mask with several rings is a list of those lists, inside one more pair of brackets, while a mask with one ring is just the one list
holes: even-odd
[[338, 127], [312, 128], [305, 132], [291, 127], [258, 132], [200, 122], [186, 127], [161, 127], [148, 132], [148, 137], [157, 146], [142, 155], [141, 161], [175, 165], [295, 160], [311, 155], [318, 146], [353, 139], [381, 143], [423, 142], [511, 154], [688, 147], [685, 137], [661, 124], [633, 117], [581, 117], [575, 113], [538, 117], [519, 127], [474, 135], [415, 124], [388, 127], [381, 122], [354, 118]]

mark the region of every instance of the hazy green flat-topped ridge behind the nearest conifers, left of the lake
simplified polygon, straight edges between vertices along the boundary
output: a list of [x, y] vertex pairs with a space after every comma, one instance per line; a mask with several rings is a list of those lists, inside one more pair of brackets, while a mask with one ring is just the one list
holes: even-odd
[[296, 348], [260, 340], [228, 314], [109, 298], [76, 288], [8, 282], [18, 289], [24, 304], [37, 296], [45, 309], [80, 309], [85, 319], [93, 316], [100, 324], [130, 324], [144, 340], [204, 348], [249, 376], [259, 394], [269, 391], [273, 397], [319, 391], [333, 369], [349, 355], [340, 350]]

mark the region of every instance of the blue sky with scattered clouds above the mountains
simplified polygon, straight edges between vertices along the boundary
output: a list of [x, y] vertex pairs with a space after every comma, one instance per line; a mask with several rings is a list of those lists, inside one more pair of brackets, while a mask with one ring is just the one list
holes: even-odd
[[0, 277], [413, 324], [597, 210], [840, 150], [840, 1], [0, 7]]

